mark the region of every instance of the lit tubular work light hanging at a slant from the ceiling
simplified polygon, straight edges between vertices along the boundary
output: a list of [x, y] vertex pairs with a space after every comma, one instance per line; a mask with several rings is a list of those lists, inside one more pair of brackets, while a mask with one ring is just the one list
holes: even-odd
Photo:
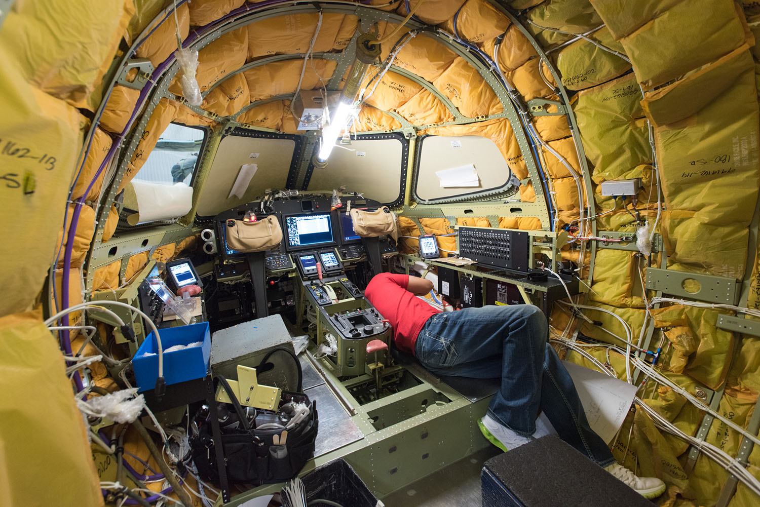
[[369, 65], [372, 65], [380, 56], [380, 43], [374, 35], [362, 33], [356, 39], [356, 58], [353, 60], [351, 70], [348, 73], [346, 86], [343, 87], [343, 93], [340, 94], [335, 112], [332, 114], [330, 124], [322, 128], [319, 151], [314, 156], [314, 166], [324, 168], [327, 166], [328, 157], [332, 153], [340, 132], [346, 128], [353, 103], [359, 94], [361, 86]]

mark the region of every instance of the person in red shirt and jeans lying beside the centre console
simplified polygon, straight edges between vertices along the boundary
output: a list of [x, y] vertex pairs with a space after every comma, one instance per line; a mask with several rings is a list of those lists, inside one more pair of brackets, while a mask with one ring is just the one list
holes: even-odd
[[502, 379], [478, 421], [486, 439], [506, 451], [557, 434], [641, 495], [663, 493], [663, 481], [622, 467], [591, 429], [570, 374], [546, 341], [549, 326], [537, 306], [439, 312], [416, 297], [431, 290], [430, 280], [382, 273], [369, 281], [364, 294], [393, 326], [397, 349], [416, 356], [429, 371]]

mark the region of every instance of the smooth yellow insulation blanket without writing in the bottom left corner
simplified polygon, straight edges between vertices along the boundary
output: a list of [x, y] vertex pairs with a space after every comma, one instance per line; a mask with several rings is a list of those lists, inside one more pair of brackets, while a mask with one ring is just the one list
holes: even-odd
[[103, 505], [82, 415], [55, 338], [36, 313], [0, 318], [0, 338], [3, 505]]

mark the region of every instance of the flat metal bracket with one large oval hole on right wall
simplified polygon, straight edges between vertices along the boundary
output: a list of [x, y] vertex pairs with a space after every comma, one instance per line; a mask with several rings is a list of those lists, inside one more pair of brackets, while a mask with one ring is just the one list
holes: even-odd
[[[689, 280], [698, 283], [698, 290], [695, 292], [686, 290], [685, 284], [688, 284]], [[729, 305], [735, 305], [740, 294], [739, 282], [734, 278], [659, 268], [647, 268], [647, 289], [661, 290], [673, 296], [688, 297], [708, 303]]]

